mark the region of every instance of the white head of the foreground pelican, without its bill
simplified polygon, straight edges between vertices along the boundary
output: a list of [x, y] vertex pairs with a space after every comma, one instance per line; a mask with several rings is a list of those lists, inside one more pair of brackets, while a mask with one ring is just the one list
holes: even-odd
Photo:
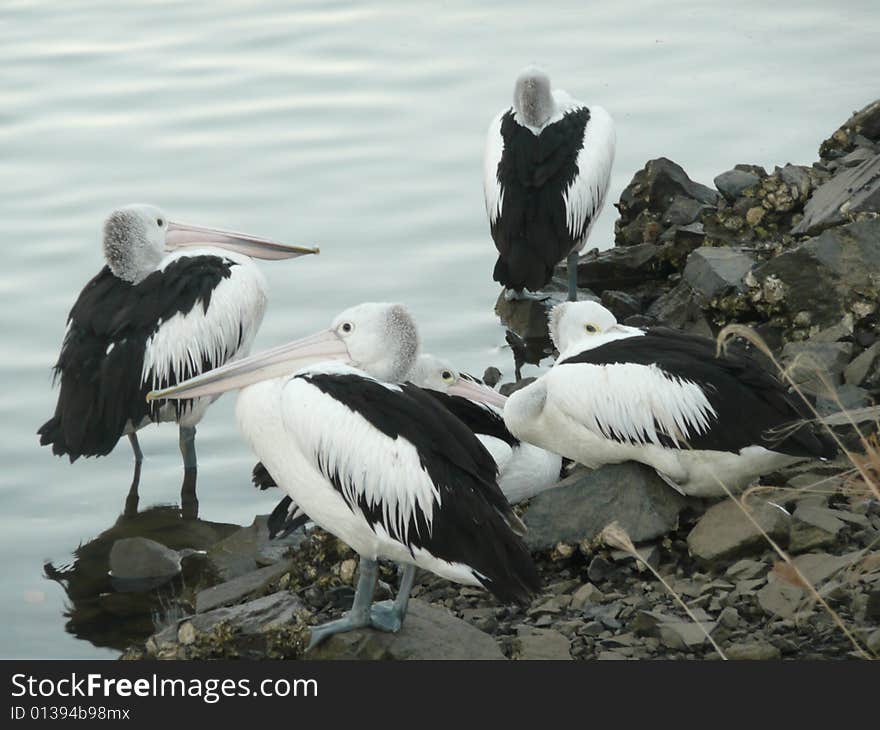
[[339, 314], [331, 329], [355, 367], [378, 380], [406, 380], [419, 351], [416, 323], [402, 304], [365, 302]]

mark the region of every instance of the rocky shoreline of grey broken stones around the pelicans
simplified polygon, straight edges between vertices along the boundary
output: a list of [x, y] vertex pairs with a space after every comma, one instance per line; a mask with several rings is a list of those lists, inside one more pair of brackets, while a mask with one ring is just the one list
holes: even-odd
[[[880, 100], [836, 130], [819, 155], [771, 172], [737, 165], [714, 188], [670, 160], [651, 160], [616, 205], [616, 246], [578, 265], [582, 296], [593, 293], [626, 324], [713, 337], [726, 325], [748, 325], [820, 414], [842, 406], [854, 415], [837, 417], [834, 428], [863, 459], [861, 473], [844, 457], [800, 465], [768, 475], [743, 498], [791, 563], [730, 499], [686, 499], [636, 464], [575, 469], [522, 508], [544, 581], [530, 606], [500, 606], [485, 591], [422, 573], [399, 634], [356, 631], [308, 656], [880, 654], [880, 460], [865, 456], [863, 440], [876, 434], [869, 407], [880, 396]], [[546, 311], [564, 297], [566, 276], [561, 268], [544, 300], [499, 298], [517, 372], [552, 354]], [[493, 384], [499, 378], [486, 373]], [[524, 382], [504, 383], [502, 392]], [[602, 540], [611, 522], [636, 543], [639, 559]], [[301, 657], [308, 625], [340, 615], [354, 594], [356, 556], [321, 530], [270, 542], [259, 517], [206, 557], [209, 569], [181, 592], [177, 610], [165, 611], [164, 625], [124, 658]], [[397, 575], [382, 570], [380, 593], [390, 594]]]

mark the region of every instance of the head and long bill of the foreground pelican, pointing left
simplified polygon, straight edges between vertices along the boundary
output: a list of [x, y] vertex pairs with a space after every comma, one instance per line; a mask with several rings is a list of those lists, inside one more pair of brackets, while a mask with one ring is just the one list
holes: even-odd
[[418, 330], [406, 307], [368, 302], [346, 309], [330, 329], [153, 391], [147, 400], [224, 393], [326, 361], [352, 365], [377, 380], [403, 382], [418, 350]]

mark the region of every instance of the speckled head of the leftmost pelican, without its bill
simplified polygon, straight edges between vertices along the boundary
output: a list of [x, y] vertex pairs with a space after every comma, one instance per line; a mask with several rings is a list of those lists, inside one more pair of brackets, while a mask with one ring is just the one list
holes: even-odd
[[114, 276], [137, 284], [156, 270], [165, 254], [168, 218], [146, 204], [117, 208], [104, 221], [104, 258]]

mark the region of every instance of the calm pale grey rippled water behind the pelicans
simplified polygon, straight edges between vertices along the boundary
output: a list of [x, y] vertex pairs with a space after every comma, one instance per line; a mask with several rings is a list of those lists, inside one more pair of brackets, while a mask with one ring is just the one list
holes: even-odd
[[[543, 65], [616, 119], [610, 200], [660, 155], [706, 183], [737, 162], [810, 162], [880, 92], [876, 0], [121, 5], [0, 5], [3, 657], [115, 655], [65, 632], [64, 594], [42, 564], [113, 524], [129, 450], [70, 466], [34, 436], [109, 209], [152, 202], [319, 244], [320, 257], [264, 267], [259, 348], [394, 299], [417, 315], [426, 349], [509, 372], [481, 157], [521, 66]], [[611, 244], [614, 213], [591, 246]], [[249, 487], [232, 411], [227, 396], [199, 430], [201, 516], [247, 524], [274, 500]], [[175, 502], [174, 428], [142, 444], [141, 505]]]

